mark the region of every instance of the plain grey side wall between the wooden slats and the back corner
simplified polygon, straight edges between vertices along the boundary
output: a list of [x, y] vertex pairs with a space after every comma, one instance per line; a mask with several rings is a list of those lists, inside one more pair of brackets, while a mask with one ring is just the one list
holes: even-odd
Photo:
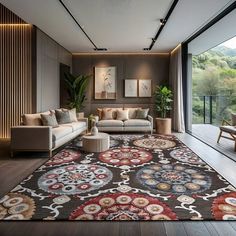
[[37, 29], [37, 112], [60, 107], [60, 63], [72, 65], [72, 54]]

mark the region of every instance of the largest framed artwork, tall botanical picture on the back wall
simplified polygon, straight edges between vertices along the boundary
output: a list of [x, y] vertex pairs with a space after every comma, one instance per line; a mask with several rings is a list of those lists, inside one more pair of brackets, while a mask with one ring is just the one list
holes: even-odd
[[116, 99], [116, 67], [95, 67], [94, 98]]

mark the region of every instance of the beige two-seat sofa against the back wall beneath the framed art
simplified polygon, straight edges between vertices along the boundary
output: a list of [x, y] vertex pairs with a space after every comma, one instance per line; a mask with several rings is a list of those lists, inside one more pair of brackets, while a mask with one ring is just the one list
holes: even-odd
[[[137, 110], [141, 108], [98, 108], [96, 125], [99, 131], [104, 132], [150, 132], [153, 131], [153, 118], [147, 115], [146, 118], [136, 118]], [[112, 117], [106, 119], [103, 113], [112, 110]], [[117, 112], [128, 110], [127, 119], [117, 119]]]

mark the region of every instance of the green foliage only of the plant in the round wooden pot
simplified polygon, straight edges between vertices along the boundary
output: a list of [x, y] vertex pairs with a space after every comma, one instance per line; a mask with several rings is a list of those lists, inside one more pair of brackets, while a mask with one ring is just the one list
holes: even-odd
[[166, 86], [156, 86], [155, 108], [161, 118], [166, 118], [167, 112], [171, 110], [173, 93]]

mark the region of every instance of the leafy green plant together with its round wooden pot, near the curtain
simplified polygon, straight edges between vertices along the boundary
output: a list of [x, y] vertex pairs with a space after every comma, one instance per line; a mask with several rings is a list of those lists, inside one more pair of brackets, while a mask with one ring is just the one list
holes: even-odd
[[166, 86], [156, 86], [155, 92], [156, 132], [158, 134], [171, 134], [171, 118], [167, 118], [167, 113], [172, 109], [172, 91]]

